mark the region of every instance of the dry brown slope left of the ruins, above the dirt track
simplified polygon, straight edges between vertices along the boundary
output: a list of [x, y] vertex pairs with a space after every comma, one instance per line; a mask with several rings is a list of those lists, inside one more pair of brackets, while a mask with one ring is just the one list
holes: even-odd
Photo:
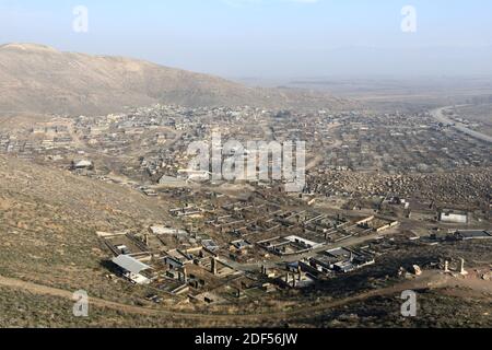
[[0, 276], [104, 285], [96, 230], [145, 229], [166, 215], [122, 186], [11, 158], [0, 156]]

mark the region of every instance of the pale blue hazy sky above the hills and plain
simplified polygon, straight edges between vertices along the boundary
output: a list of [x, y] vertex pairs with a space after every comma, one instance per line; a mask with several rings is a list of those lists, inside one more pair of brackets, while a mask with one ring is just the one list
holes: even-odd
[[0, 0], [0, 43], [226, 78], [489, 75], [492, 1]]

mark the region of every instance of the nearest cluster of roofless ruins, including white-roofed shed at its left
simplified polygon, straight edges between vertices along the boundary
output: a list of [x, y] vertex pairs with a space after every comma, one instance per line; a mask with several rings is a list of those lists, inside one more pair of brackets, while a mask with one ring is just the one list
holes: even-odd
[[[377, 215], [329, 217], [244, 201], [212, 206], [172, 209], [180, 223], [176, 226], [98, 232], [113, 262], [108, 278], [145, 285], [148, 300], [157, 304], [185, 300], [223, 305], [290, 289], [315, 290], [317, 283], [380, 264], [385, 254], [399, 249], [400, 240], [422, 245], [492, 240], [490, 230], [402, 235], [398, 221]], [[421, 267], [402, 271], [418, 276]]]

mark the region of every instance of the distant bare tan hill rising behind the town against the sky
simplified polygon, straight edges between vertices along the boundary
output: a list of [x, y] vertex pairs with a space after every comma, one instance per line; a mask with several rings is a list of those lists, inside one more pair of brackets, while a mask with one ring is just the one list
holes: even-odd
[[98, 114], [153, 103], [187, 106], [340, 106], [314, 92], [254, 89], [221, 78], [121, 57], [0, 46], [0, 112]]

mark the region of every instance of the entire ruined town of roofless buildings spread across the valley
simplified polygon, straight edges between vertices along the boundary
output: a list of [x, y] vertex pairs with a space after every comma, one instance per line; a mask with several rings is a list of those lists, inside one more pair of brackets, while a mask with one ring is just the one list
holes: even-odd
[[[290, 194], [281, 180], [231, 183], [190, 172], [188, 145], [213, 132], [245, 143], [306, 141], [304, 188]], [[316, 290], [382, 264], [401, 242], [492, 238], [490, 144], [424, 112], [156, 105], [54, 116], [0, 135], [0, 153], [165, 202], [162, 222], [143, 231], [96, 233], [107, 278], [145, 288], [156, 304], [247, 303]], [[415, 275], [421, 267], [402, 269]]]

